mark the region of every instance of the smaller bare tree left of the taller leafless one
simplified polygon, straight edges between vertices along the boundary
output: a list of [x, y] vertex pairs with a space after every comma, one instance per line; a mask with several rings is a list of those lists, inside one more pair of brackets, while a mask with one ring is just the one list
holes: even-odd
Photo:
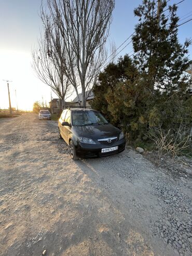
[[70, 80], [64, 72], [65, 48], [57, 26], [41, 9], [41, 18], [44, 25], [44, 34], [40, 34], [38, 46], [32, 50], [33, 63], [38, 78], [51, 87], [52, 91], [65, 100], [73, 93]]

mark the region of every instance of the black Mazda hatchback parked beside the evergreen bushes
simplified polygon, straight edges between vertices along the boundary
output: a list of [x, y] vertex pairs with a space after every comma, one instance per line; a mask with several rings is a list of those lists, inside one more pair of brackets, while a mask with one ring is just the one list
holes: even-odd
[[108, 156], [125, 150], [124, 133], [92, 109], [63, 110], [58, 130], [59, 138], [70, 146], [74, 160]]

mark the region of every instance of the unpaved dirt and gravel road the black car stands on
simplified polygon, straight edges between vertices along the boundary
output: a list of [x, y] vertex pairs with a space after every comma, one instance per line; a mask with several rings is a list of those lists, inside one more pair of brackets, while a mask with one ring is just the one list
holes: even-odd
[[57, 123], [0, 120], [0, 255], [191, 255], [191, 178], [125, 152], [73, 161]]

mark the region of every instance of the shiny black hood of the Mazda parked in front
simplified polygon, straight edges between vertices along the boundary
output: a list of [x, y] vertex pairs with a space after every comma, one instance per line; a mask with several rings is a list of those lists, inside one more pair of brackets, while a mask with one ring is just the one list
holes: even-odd
[[121, 132], [121, 130], [111, 124], [74, 126], [73, 130], [76, 136], [82, 136], [91, 139], [117, 137]]

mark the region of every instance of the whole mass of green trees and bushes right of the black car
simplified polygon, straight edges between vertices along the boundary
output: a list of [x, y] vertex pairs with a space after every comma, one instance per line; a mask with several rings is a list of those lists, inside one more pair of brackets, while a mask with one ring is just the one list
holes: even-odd
[[159, 157], [191, 152], [192, 96], [185, 73], [190, 41], [179, 43], [177, 6], [143, 1], [134, 10], [134, 56], [109, 63], [94, 85], [91, 106], [120, 126], [129, 142], [158, 150]]

